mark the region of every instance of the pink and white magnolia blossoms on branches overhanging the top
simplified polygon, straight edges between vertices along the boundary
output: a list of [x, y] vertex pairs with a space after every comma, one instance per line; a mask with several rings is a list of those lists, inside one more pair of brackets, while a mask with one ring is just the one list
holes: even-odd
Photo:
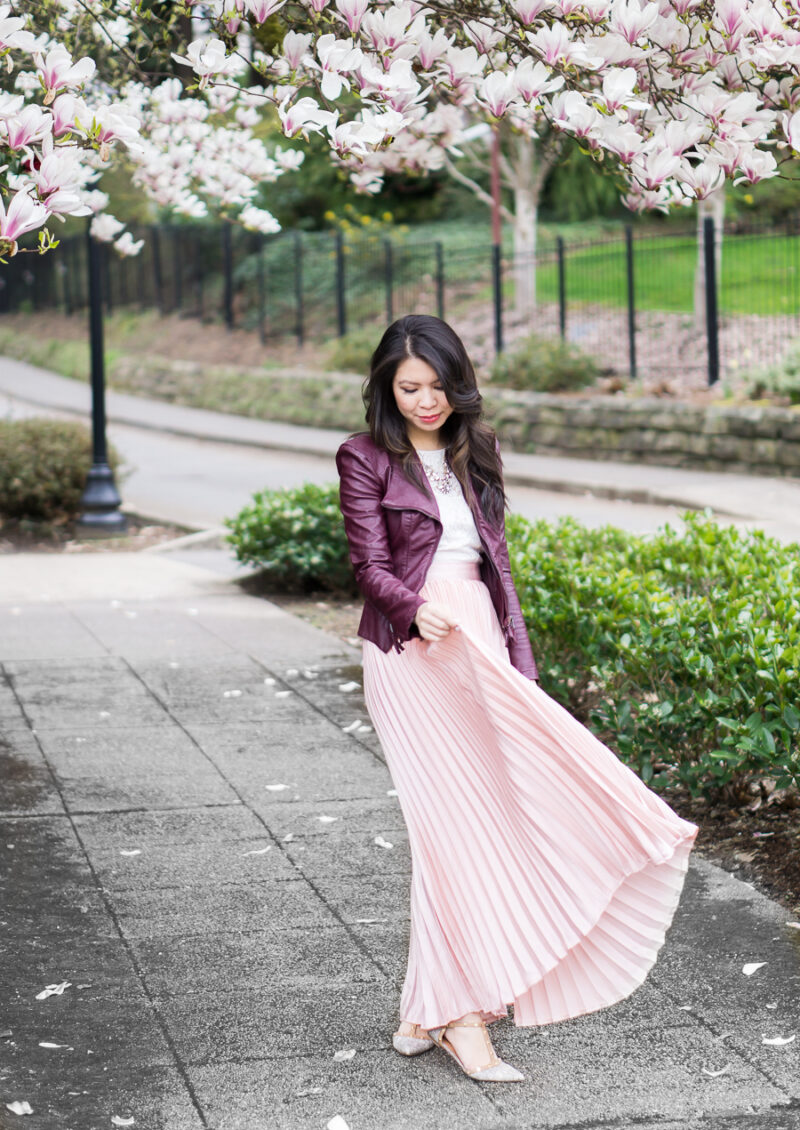
[[[157, 33], [180, 77], [147, 64]], [[268, 150], [269, 115], [323, 134], [368, 192], [388, 167], [441, 168], [477, 118], [547, 130], [617, 171], [634, 210], [800, 150], [800, 0], [38, 0], [0, 5], [0, 55], [7, 254], [89, 211], [134, 250], [97, 186], [121, 148], [157, 203], [275, 231], [260, 186], [302, 153]]]

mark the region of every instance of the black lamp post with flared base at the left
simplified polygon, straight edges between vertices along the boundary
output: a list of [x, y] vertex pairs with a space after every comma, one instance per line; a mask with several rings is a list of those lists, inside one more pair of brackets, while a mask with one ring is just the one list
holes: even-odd
[[128, 519], [119, 510], [122, 499], [108, 467], [105, 440], [105, 372], [103, 357], [103, 286], [101, 249], [86, 232], [89, 276], [89, 334], [92, 347], [92, 469], [81, 495], [77, 529], [84, 537], [125, 533]]

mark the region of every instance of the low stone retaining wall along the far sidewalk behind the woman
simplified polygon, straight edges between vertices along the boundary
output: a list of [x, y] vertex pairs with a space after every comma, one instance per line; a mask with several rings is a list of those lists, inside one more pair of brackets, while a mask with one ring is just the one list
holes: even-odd
[[[362, 380], [347, 373], [114, 366], [114, 386], [287, 424], [364, 427]], [[140, 372], [142, 364], [148, 371]], [[153, 371], [151, 371], [153, 370]], [[662, 398], [560, 397], [484, 388], [487, 417], [518, 452], [800, 478], [800, 407], [689, 405]]]

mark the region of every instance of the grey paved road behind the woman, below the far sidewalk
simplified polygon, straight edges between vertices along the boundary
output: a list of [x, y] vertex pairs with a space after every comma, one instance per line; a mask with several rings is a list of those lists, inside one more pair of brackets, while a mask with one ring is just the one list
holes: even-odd
[[[0, 414], [15, 418], [53, 415], [73, 417], [0, 395]], [[195, 440], [169, 433], [111, 424], [108, 437], [130, 475], [121, 484], [124, 504], [153, 518], [180, 520], [198, 529], [218, 527], [245, 505], [255, 490], [295, 487], [305, 481], [336, 483], [333, 460], [290, 451], [270, 451]], [[669, 522], [681, 528], [679, 507], [629, 503], [593, 495], [565, 494], [513, 486], [512, 510], [523, 518], [571, 515], [586, 525], [619, 525], [650, 533]], [[180, 515], [180, 519], [179, 519]], [[741, 527], [755, 521], [725, 520]]]

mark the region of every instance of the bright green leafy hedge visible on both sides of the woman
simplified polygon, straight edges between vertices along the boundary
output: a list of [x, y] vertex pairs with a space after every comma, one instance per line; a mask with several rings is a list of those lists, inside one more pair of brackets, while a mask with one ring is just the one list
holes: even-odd
[[[653, 537], [508, 519], [541, 685], [654, 789], [797, 789], [800, 547], [681, 518]], [[263, 492], [227, 524], [271, 583], [348, 591], [336, 487]]]

